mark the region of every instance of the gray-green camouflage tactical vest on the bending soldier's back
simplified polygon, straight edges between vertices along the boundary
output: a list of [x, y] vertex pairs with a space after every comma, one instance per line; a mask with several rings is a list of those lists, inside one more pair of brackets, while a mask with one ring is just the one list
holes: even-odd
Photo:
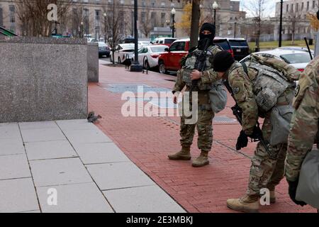
[[[237, 67], [242, 67], [242, 65], [236, 62], [234, 69]], [[247, 67], [257, 72], [256, 77], [250, 80], [256, 103], [265, 112], [276, 106], [279, 97], [287, 88], [295, 86], [294, 82], [289, 82], [284, 77], [284, 74], [267, 65], [249, 62]]]

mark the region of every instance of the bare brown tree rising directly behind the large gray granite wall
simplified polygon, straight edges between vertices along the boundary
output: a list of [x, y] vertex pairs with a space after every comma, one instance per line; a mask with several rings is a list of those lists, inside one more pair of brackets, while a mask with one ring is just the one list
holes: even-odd
[[23, 35], [27, 36], [50, 36], [52, 28], [57, 23], [47, 20], [47, 6], [49, 4], [57, 5], [58, 23], [64, 26], [67, 23], [69, 7], [72, 0], [20, 0], [16, 2], [17, 15], [21, 21]]

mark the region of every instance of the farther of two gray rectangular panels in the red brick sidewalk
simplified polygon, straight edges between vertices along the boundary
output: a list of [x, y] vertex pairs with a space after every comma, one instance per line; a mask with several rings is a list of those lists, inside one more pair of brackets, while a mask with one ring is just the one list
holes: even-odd
[[164, 87], [150, 87], [145, 84], [108, 84], [106, 88], [108, 91], [113, 93], [146, 93], [146, 92], [171, 92], [170, 89]]

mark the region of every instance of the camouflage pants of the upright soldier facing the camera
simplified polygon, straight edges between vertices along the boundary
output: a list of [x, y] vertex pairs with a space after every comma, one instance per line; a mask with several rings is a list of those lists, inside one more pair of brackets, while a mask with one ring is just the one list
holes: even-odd
[[[209, 106], [208, 92], [198, 92], [198, 106]], [[186, 124], [185, 117], [181, 117], [181, 146], [190, 147], [193, 143], [195, 128], [198, 132], [198, 149], [204, 152], [211, 151], [213, 144], [213, 126], [212, 121], [215, 114], [211, 109], [198, 109], [198, 121], [195, 124]]]

